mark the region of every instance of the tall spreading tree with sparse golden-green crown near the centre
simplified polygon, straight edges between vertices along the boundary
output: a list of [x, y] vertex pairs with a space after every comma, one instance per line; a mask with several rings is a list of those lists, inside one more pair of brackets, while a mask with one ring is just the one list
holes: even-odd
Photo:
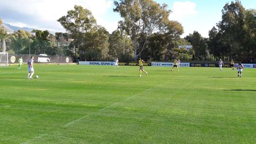
[[[171, 10], [167, 5], [160, 6], [152, 0], [119, 0], [114, 1], [114, 12], [120, 13], [123, 21], [119, 21], [121, 29], [133, 40], [134, 59], [141, 55], [148, 42], [148, 37], [155, 31], [163, 29], [169, 21]], [[141, 41], [139, 41], [141, 40]]]

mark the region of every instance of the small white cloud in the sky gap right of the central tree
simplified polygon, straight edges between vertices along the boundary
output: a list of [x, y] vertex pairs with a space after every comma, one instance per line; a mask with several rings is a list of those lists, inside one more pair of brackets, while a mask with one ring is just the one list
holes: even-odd
[[193, 2], [174, 2], [172, 6], [172, 13], [170, 14], [171, 20], [180, 21], [183, 18], [197, 14], [195, 7], [197, 5]]

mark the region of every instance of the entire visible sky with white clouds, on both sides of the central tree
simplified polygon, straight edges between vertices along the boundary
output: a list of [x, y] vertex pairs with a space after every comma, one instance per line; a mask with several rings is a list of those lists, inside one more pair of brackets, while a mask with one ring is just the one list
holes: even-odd
[[[5, 23], [30, 28], [64, 32], [57, 22], [74, 5], [91, 10], [97, 24], [103, 25], [110, 33], [117, 28], [121, 17], [113, 12], [113, 0], [0, 0], [0, 18]], [[185, 33], [182, 37], [198, 31], [208, 37], [208, 31], [221, 20], [221, 10], [228, 0], [155, 0], [166, 3], [173, 11], [171, 20], [179, 21]], [[256, 0], [242, 0], [246, 9], [256, 9]]]

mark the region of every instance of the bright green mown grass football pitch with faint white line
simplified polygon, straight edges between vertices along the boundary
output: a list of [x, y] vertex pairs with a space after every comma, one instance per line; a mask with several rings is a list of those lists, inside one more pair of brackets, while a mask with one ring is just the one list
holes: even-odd
[[0, 143], [255, 143], [256, 69], [0, 67]]

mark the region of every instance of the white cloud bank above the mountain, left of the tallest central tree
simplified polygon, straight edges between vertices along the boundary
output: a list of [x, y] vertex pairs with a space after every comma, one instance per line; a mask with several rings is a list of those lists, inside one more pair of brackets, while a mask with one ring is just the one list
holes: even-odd
[[[104, 21], [104, 14], [112, 5], [111, 0], [0, 0], [0, 9], [5, 9], [5, 11], [11, 12], [13, 16], [15, 15], [12, 19], [5, 18], [7, 21], [4, 22], [21, 27], [33, 26], [32, 28], [55, 29], [55, 31], [64, 31], [57, 20], [66, 16], [68, 10], [74, 9], [74, 5], [81, 5], [84, 9], [91, 10], [97, 24], [112, 25]], [[26, 16], [26, 20], [15, 20], [15, 17], [18, 16]]]

